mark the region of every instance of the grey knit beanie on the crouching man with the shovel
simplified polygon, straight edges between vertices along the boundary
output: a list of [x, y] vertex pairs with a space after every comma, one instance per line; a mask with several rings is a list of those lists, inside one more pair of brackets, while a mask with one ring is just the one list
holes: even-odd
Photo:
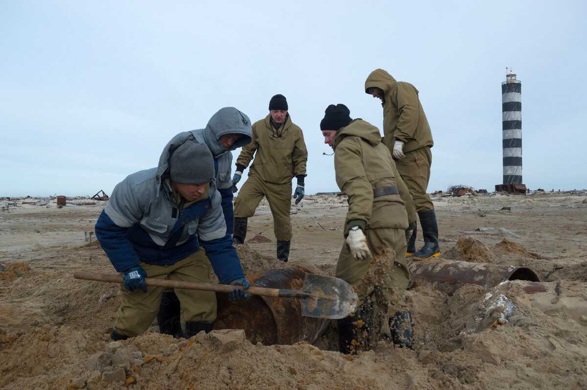
[[205, 184], [214, 179], [214, 158], [202, 144], [185, 141], [169, 159], [171, 180], [183, 184]]

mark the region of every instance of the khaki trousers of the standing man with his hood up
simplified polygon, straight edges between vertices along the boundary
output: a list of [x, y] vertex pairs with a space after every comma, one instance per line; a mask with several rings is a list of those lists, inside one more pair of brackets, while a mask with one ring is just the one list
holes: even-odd
[[432, 152], [430, 147], [406, 152], [406, 157], [396, 162], [397, 171], [410, 191], [416, 205], [416, 212], [429, 211], [434, 208], [430, 196], [426, 193], [430, 181]]

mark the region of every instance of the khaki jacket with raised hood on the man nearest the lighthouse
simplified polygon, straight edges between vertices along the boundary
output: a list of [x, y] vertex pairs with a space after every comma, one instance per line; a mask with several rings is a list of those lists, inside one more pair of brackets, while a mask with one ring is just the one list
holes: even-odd
[[397, 82], [383, 69], [376, 69], [365, 81], [365, 91], [371, 87], [383, 90], [384, 143], [392, 150], [395, 140], [403, 141], [403, 151], [411, 152], [423, 147], [433, 147], [432, 133], [418, 90], [410, 83]]

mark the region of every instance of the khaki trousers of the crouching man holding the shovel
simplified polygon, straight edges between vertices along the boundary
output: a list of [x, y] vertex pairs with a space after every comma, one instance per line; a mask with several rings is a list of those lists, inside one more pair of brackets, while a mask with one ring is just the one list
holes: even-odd
[[[204, 250], [198, 250], [183, 260], [169, 266], [141, 263], [147, 277], [181, 280], [183, 282], [210, 282], [212, 266]], [[165, 287], [147, 286], [130, 293], [124, 287], [122, 304], [114, 328], [120, 334], [137, 336], [149, 328], [159, 311], [161, 294]], [[185, 321], [214, 321], [216, 319], [216, 294], [212, 291], [175, 289], [184, 312]]]

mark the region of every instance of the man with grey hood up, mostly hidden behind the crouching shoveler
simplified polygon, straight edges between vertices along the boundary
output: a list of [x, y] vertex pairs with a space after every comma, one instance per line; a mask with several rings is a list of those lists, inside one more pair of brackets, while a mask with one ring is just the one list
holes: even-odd
[[[170, 145], [181, 145], [185, 141], [192, 141], [204, 145], [214, 157], [216, 171], [216, 188], [221, 195], [222, 212], [226, 222], [227, 233], [232, 235], [234, 227], [234, 212], [232, 209], [232, 153], [239, 147], [251, 142], [251, 120], [248, 116], [234, 107], [224, 107], [218, 110], [208, 121], [205, 128], [184, 131], [169, 141]], [[173, 289], [163, 291], [161, 305], [157, 313], [159, 331], [180, 337], [181, 307], [177, 294]]]

